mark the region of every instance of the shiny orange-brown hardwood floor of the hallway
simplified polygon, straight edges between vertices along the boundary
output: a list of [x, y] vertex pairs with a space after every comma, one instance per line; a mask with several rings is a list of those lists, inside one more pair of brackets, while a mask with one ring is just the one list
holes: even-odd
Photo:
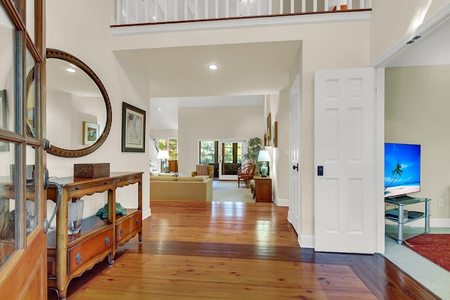
[[[287, 207], [152, 201], [137, 237], [68, 299], [439, 299], [378, 254], [301, 249]], [[56, 293], [49, 292], [49, 299]]]

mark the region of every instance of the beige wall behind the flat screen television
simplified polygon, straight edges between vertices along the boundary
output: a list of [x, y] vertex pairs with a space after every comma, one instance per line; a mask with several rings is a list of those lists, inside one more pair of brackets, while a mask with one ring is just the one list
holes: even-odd
[[[450, 65], [385, 71], [385, 141], [421, 145], [420, 193], [432, 219], [450, 218]], [[437, 199], [444, 198], [444, 207]], [[423, 211], [423, 204], [408, 209]]]

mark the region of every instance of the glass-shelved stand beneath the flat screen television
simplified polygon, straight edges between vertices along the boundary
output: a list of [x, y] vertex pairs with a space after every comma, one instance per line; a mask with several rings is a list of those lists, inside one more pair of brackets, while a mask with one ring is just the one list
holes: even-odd
[[[401, 197], [393, 197], [393, 198], [385, 198], [386, 203], [397, 205], [397, 216], [398, 218], [392, 218], [389, 216], [385, 216], [385, 219], [396, 222], [397, 223], [397, 235], [392, 233], [386, 233], [387, 236], [392, 237], [394, 240], [397, 240], [397, 244], [402, 244], [404, 240], [407, 240], [408, 238], [411, 238], [415, 235], [421, 235], [422, 233], [415, 234], [415, 235], [409, 235], [407, 238], [404, 237], [404, 228], [403, 225], [412, 221], [416, 221], [419, 219], [425, 219], [425, 230], [424, 233], [430, 232], [430, 200], [429, 198], [416, 198], [416, 197], [409, 197], [409, 196], [401, 196]], [[422, 216], [418, 216], [416, 218], [408, 218], [404, 219], [403, 212], [404, 212], [404, 206], [416, 204], [416, 203], [423, 203], [425, 204], [425, 211]]]

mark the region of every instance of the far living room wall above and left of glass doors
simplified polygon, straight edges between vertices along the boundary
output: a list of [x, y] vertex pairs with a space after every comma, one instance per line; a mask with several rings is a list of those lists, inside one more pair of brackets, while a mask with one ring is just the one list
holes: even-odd
[[266, 129], [264, 107], [180, 107], [178, 145], [181, 174], [191, 174], [198, 164], [198, 142], [262, 138]]

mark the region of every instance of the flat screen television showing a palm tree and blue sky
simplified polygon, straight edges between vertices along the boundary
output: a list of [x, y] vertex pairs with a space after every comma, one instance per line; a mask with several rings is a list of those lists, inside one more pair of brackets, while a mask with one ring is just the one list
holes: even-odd
[[385, 198], [420, 192], [420, 145], [385, 143]]

